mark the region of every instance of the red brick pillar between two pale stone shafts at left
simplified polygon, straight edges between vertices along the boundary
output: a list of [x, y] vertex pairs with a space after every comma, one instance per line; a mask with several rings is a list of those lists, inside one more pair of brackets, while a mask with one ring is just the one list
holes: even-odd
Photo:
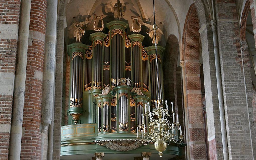
[[41, 97], [47, 0], [32, 0], [20, 159], [40, 159]]

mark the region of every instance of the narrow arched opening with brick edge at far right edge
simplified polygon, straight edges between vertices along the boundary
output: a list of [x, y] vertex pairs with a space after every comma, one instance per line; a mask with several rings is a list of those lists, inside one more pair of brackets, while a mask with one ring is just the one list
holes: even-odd
[[[244, 74], [246, 82], [246, 92], [247, 92], [247, 102], [248, 102], [248, 111], [249, 111], [249, 119], [250, 119], [250, 128], [251, 128], [251, 137], [252, 137], [252, 147], [253, 147], [253, 156], [256, 157], [256, 139], [255, 139], [255, 131], [256, 131], [256, 108], [255, 108], [255, 83], [256, 83], [256, 51], [255, 51], [255, 37], [253, 34], [253, 28], [255, 28], [255, 24], [253, 24], [253, 18], [250, 12], [250, 0], [247, 0], [241, 14], [241, 22], [240, 22], [240, 40], [242, 42], [242, 58], [243, 63], [240, 62], [241, 68], [243, 65]], [[241, 59], [241, 55], [239, 54], [239, 59]], [[254, 92], [254, 93], [253, 93]]]

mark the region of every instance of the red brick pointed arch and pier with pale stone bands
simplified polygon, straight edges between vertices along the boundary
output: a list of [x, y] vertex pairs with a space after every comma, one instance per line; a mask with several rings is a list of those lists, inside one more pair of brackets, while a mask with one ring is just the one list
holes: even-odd
[[190, 159], [206, 159], [204, 117], [199, 64], [200, 24], [195, 4], [189, 7], [183, 30], [182, 57], [185, 62], [185, 88]]

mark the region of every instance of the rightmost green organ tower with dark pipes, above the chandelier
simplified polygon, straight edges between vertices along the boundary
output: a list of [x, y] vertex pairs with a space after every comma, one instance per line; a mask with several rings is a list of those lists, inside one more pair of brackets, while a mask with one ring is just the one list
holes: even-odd
[[[157, 49], [157, 57], [156, 57], [156, 49]], [[163, 64], [162, 64], [162, 54], [164, 48], [162, 46], [149, 46], [146, 48], [149, 56], [150, 63], [150, 86], [151, 86], [151, 102], [155, 100], [160, 100], [162, 104], [163, 100]], [[157, 63], [156, 63], [157, 61]], [[157, 69], [159, 81], [157, 84]], [[158, 88], [159, 86], [159, 88]], [[155, 106], [155, 103], [151, 103], [152, 107]]]

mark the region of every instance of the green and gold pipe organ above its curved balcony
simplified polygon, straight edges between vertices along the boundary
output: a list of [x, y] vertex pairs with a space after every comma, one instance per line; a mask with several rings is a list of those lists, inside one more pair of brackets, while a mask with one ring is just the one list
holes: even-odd
[[[145, 104], [154, 106], [152, 101], [158, 99], [158, 85], [159, 99], [163, 99], [161, 53], [164, 48], [144, 48], [144, 36], [127, 35], [127, 27], [125, 22], [114, 20], [106, 24], [106, 34], [90, 34], [91, 45], [80, 42], [68, 45], [69, 124], [97, 123], [98, 135], [135, 133], [136, 127], [140, 131], [144, 127], [141, 124]], [[147, 123], [148, 117], [144, 117], [145, 127]]]

